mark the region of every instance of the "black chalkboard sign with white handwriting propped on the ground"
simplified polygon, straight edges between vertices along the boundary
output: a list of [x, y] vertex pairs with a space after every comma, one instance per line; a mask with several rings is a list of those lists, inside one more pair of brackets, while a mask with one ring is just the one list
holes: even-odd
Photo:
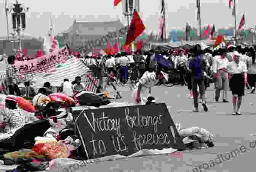
[[176, 148], [184, 144], [164, 103], [73, 109], [88, 159], [131, 155], [142, 149]]

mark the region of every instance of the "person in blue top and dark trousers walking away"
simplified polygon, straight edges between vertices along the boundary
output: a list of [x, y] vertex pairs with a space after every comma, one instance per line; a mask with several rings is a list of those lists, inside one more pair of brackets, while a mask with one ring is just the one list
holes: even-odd
[[205, 76], [204, 71], [207, 70], [207, 64], [203, 58], [201, 58], [201, 47], [199, 44], [195, 45], [191, 50], [190, 54], [192, 59], [189, 62], [189, 70], [191, 72], [191, 83], [194, 98], [193, 112], [199, 112], [198, 110], [198, 96], [197, 87], [199, 87], [200, 98], [202, 99], [202, 105], [205, 112], [208, 111], [208, 107], [205, 102]]

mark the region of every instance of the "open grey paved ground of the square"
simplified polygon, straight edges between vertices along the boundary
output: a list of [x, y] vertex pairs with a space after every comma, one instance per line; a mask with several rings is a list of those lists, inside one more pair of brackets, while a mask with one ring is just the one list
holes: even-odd
[[[133, 102], [128, 87], [120, 87], [119, 90], [122, 92], [124, 101]], [[207, 113], [203, 112], [202, 107], [200, 113], [192, 113], [192, 100], [188, 98], [186, 87], [167, 88], [159, 86], [152, 89], [152, 94], [157, 103], [166, 103], [174, 122], [181, 123], [182, 128], [198, 126], [211, 131], [215, 135], [216, 147], [186, 151], [183, 153], [182, 158], [171, 155], [157, 155], [107, 161], [83, 167], [78, 170], [79, 172], [197, 172], [203, 171], [203, 167], [193, 170], [194, 167], [209, 163], [210, 160], [215, 161], [219, 154], [230, 153], [241, 146], [245, 146], [247, 150], [244, 151], [242, 149], [243, 153], [239, 153], [237, 157], [233, 153], [234, 157], [231, 157], [228, 161], [222, 161], [222, 163], [214, 167], [209, 167], [207, 171], [255, 171], [252, 161], [254, 161], [254, 155], [256, 154], [254, 149], [256, 148], [249, 150], [249, 143], [256, 139], [256, 136], [251, 135], [256, 133], [256, 107], [254, 106], [256, 95], [248, 92], [242, 104], [243, 114], [241, 116], [232, 116], [231, 92], [229, 93], [230, 103], [215, 103], [213, 85], [206, 92], [207, 104], [210, 109]], [[254, 147], [254, 145], [251, 144], [251, 147]], [[228, 155], [226, 157], [228, 158]], [[208, 168], [207, 164], [204, 167]]]

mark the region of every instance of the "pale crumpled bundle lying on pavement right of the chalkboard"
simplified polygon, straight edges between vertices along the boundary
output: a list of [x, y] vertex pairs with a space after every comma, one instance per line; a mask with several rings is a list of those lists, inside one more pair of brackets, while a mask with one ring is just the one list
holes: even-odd
[[179, 135], [188, 149], [200, 149], [202, 147], [214, 147], [213, 134], [206, 129], [199, 127], [190, 127], [181, 129], [181, 125], [176, 123]]

